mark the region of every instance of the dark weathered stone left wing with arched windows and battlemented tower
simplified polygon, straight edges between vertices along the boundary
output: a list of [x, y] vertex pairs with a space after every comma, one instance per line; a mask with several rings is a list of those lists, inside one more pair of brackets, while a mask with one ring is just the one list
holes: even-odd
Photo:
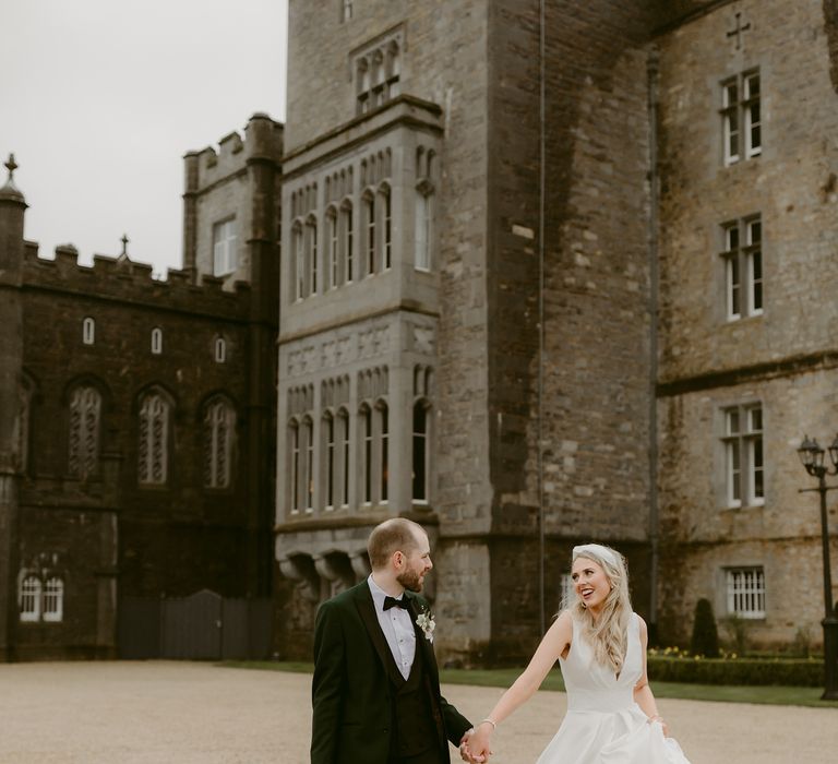
[[[167, 282], [124, 254], [39, 256], [0, 192], [2, 658], [113, 656], [125, 597], [271, 595], [282, 128], [256, 115], [230, 143], [187, 157], [197, 244]], [[247, 192], [214, 201], [230, 177]], [[227, 284], [217, 216], [243, 219]]]

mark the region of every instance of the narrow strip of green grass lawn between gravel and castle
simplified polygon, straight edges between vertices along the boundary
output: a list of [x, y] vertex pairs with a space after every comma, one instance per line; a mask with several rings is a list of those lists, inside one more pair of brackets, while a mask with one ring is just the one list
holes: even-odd
[[[311, 673], [312, 664], [283, 661], [226, 660], [219, 666], [230, 668], [264, 669]], [[520, 669], [442, 669], [440, 680], [447, 684], [474, 684], [477, 687], [507, 688]], [[563, 691], [564, 683], [559, 669], [553, 669], [541, 684], [542, 690]], [[765, 703], [769, 705], [812, 706], [838, 708], [838, 701], [822, 701], [819, 688], [787, 687], [726, 687], [716, 684], [680, 684], [655, 682], [653, 691], [658, 697], [680, 697], [687, 701], [725, 701], [727, 703]]]

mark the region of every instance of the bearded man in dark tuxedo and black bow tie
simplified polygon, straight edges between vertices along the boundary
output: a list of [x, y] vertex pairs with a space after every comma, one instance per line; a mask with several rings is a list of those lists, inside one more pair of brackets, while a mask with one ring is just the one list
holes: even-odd
[[[433, 620], [418, 593], [428, 534], [404, 517], [373, 528], [371, 575], [320, 606], [312, 764], [447, 764], [471, 724], [440, 694]], [[465, 759], [460, 748], [460, 755]]]

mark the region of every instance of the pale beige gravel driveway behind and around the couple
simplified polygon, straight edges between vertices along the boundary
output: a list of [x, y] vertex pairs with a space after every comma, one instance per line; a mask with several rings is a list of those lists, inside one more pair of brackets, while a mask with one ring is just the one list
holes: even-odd
[[[0, 665], [0, 762], [306, 764], [310, 681], [197, 662]], [[472, 719], [501, 693], [443, 692]], [[539, 692], [498, 730], [494, 764], [535, 762], [564, 708], [564, 694]], [[693, 764], [838, 761], [835, 708], [672, 700], [660, 708]]]

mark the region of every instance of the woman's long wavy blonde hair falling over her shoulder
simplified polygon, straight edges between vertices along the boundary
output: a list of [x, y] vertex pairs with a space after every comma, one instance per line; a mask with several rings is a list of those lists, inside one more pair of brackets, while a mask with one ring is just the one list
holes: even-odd
[[563, 607], [579, 622], [583, 635], [594, 647], [597, 662], [612, 668], [614, 673], [620, 673], [628, 646], [628, 619], [632, 616], [625, 558], [615, 549], [600, 544], [574, 547], [571, 564], [580, 557], [592, 560], [602, 568], [611, 584], [611, 592], [596, 620], [575, 593], [572, 601], [563, 602]]

